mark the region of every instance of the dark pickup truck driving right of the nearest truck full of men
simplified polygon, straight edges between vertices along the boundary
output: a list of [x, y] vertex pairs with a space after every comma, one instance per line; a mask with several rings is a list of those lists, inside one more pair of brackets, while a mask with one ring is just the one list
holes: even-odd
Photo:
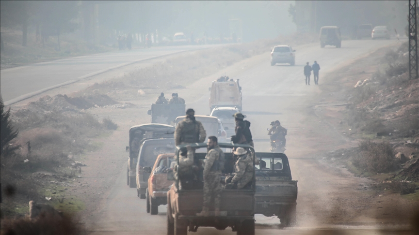
[[292, 180], [290, 163], [283, 153], [256, 153], [255, 213], [277, 216], [285, 227], [295, 224], [297, 181]]

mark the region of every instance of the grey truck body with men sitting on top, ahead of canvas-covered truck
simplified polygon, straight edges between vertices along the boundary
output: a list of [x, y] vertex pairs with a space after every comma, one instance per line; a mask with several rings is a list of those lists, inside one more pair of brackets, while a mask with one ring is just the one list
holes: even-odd
[[151, 109], [147, 112], [151, 115], [151, 123], [161, 123], [174, 125], [175, 119], [185, 115], [185, 104], [151, 104]]

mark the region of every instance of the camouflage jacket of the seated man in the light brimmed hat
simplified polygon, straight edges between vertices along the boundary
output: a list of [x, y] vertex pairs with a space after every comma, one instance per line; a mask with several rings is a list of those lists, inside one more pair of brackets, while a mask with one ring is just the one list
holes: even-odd
[[253, 180], [255, 170], [253, 169], [252, 157], [248, 154], [241, 156], [234, 165], [234, 171], [231, 183], [237, 183], [237, 189], [242, 189]]

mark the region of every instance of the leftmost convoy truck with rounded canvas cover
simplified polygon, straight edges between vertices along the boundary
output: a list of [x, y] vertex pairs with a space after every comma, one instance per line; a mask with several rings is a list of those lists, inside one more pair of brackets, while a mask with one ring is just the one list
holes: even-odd
[[[165, 124], [144, 124], [129, 128], [129, 146], [125, 151], [129, 152], [127, 167], [127, 185], [129, 188], [136, 188], [136, 162], [140, 147], [147, 139], [153, 138], [174, 138], [175, 127]], [[145, 197], [145, 194], [144, 194]]]

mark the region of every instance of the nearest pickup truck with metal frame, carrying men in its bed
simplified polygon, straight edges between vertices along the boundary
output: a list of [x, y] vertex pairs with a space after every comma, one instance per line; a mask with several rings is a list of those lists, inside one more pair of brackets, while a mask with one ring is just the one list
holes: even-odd
[[[249, 145], [236, 145], [227, 143], [218, 143], [220, 148], [231, 150], [233, 147], [244, 147], [249, 150], [249, 154], [255, 156], [254, 149]], [[205, 148], [206, 144], [192, 144], [193, 148]], [[186, 145], [176, 147], [176, 155], [179, 151], [186, 148]], [[234, 161], [231, 151], [226, 151], [226, 165], [223, 173], [232, 173]], [[206, 153], [195, 152], [195, 162], [205, 159]], [[255, 157], [253, 157], [255, 165]], [[229, 172], [231, 170], [231, 172]], [[253, 171], [253, 174], [254, 171]], [[168, 179], [174, 179], [173, 174], [168, 174]], [[202, 180], [202, 178], [200, 178]], [[198, 182], [199, 183], [199, 182]], [[200, 184], [196, 185], [200, 185]], [[201, 184], [202, 185], [202, 184]], [[196, 232], [198, 227], [214, 227], [218, 230], [225, 230], [231, 227], [239, 235], [255, 234], [255, 178], [250, 187], [240, 190], [226, 190], [221, 193], [220, 216], [214, 216], [214, 208], [210, 207], [208, 217], [196, 216], [201, 212], [203, 204], [202, 188], [182, 189], [179, 180], [167, 192], [167, 234], [168, 235], [186, 235], [188, 227], [190, 232]]]

